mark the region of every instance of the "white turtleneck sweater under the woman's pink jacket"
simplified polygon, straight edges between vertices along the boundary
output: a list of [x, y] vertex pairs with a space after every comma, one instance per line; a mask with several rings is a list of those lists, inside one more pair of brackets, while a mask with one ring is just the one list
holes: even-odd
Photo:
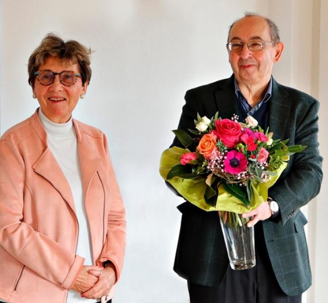
[[[49, 120], [41, 109], [38, 111], [38, 116], [47, 134], [48, 147], [62, 169], [73, 194], [75, 213], [79, 225], [76, 255], [85, 258], [84, 265], [92, 265], [90, 234], [84, 208], [81, 169], [72, 117], [66, 123], [55, 123]], [[67, 303], [98, 301], [82, 298], [81, 294], [74, 290], [68, 291]]]

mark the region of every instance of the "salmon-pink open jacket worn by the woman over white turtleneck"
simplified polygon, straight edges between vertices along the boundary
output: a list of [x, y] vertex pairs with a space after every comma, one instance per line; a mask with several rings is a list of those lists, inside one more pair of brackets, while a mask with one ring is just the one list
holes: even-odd
[[[120, 277], [125, 210], [105, 135], [73, 119], [93, 263]], [[66, 302], [84, 259], [75, 254], [72, 193], [35, 112], [0, 138], [0, 298]]]

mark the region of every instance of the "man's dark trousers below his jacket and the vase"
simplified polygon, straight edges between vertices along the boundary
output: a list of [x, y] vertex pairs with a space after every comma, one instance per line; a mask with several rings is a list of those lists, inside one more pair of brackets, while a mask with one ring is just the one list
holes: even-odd
[[288, 296], [275, 278], [265, 247], [262, 223], [255, 225], [255, 251], [255, 267], [232, 270], [229, 266], [218, 286], [188, 281], [191, 303], [301, 303], [302, 294]]

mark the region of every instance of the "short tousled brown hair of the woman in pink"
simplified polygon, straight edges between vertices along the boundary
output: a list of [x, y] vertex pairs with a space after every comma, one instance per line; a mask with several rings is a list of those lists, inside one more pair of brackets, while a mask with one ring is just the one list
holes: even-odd
[[91, 78], [90, 68], [91, 49], [75, 40], [64, 41], [54, 33], [45, 35], [40, 45], [28, 59], [28, 83], [34, 87], [34, 72], [44, 64], [49, 56], [57, 56], [71, 64], [77, 63], [80, 68], [82, 84], [89, 83]]

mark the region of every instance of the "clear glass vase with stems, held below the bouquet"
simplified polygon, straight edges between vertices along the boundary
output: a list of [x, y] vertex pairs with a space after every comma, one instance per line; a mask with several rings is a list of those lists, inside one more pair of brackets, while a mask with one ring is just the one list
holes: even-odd
[[220, 216], [230, 266], [234, 270], [249, 269], [256, 265], [254, 226], [247, 227], [249, 218], [226, 212]]

